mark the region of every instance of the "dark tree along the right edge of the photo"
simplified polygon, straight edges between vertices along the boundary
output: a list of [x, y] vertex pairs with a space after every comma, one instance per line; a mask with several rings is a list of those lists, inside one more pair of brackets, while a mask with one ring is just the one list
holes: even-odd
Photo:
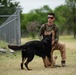
[[69, 9], [69, 23], [72, 25], [74, 38], [76, 38], [76, 0], [66, 0], [66, 5]]

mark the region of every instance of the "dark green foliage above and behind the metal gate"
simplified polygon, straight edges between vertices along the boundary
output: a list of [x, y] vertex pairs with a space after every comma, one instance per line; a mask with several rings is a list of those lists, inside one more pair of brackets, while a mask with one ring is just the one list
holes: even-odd
[[[12, 0], [11, 0], [12, 1]], [[0, 7], [0, 15], [11, 15], [16, 11], [16, 8], [19, 6], [19, 2], [11, 2], [9, 0], [1, 0], [1, 5], [4, 7]], [[6, 21], [8, 17], [0, 17], [0, 25]]]

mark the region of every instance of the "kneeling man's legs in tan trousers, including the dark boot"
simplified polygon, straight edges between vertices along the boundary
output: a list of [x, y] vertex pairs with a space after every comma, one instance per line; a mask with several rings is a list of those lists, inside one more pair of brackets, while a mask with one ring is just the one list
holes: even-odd
[[[59, 50], [60, 53], [61, 53], [61, 58], [62, 58], [62, 61], [61, 61], [61, 65], [62, 67], [66, 66], [66, 49], [65, 49], [65, 44], [62, 44], [62, 43], [57, 43], [55, 44], [53, 47], [52, 47], [52, 50]], [[53, 61], [55, 62], [56, 64], [56, 59], [53, 58]], [[48, 61], [48, 59], [46, 58], [46, 63], [47, 65], [49, 66], [51, 63]]]

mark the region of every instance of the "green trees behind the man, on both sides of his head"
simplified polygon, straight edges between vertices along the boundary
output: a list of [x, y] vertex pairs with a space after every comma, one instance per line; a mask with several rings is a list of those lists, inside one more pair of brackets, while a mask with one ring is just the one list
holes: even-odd
[[34, 21], [39, 22], [41, 26], [47, 22], [48, 12], [54, 12], [56, 14], [55, 22], [60, 27], [60, 34], [76, 35], [76, 0], [66, 0], [66, 4], [56, 7], [55, 10], [52, 10], [47, 5], [40, 9], [31, 10], [28, 14], [24, 14], [21, 27], [25, 27], [26, 30], [28, 23]]

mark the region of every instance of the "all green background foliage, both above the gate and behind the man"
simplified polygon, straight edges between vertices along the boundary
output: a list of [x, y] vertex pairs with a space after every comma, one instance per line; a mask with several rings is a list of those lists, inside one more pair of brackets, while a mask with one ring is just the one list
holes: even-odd
[[[0, 14], [12, 14], [16, 7], [19, 6], [19, 2], [6, 2], [2, 0], [2, 4], [5, 7], [0, 7]], [[56, 7], [54, 10], [45, 5], [39, 9], [31, 10], [27, 14], [21, 14], [21, 32], [23, 35], [35, 36], [38, 33], [40, 26], [47, 22], [47, 14], [54, 12], [56, 14], [55, 23], [60, 27], [60, 34], [73, 34], [76, 37], [76, 0], [65, 0], [66, 4]], [[9, 7], [8, 7], [9, 6]], [[12, 8], [12, 10], [10, 9]], [[8, 10], [9, 9], [9, 10]], [[6, 18], [1, 18], [0, 24], [4, 22]], [[35, 24], [37, 22], [37, 24]], [[34, 23], [34, 25], [31, 25]], [[30, 30], [33, 26], [33, 32]], [[29, 29], [29, 30], [28, 30]]]

